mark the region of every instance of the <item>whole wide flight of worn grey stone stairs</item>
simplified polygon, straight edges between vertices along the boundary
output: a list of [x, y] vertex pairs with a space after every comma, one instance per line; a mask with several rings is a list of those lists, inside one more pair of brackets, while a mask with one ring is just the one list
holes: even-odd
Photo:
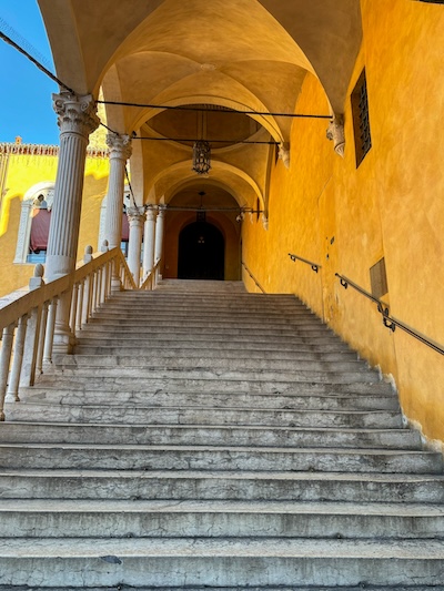
[[0, 590], [444, 589], [442, 456], [290, 295], [162, 282], [0, 424]]

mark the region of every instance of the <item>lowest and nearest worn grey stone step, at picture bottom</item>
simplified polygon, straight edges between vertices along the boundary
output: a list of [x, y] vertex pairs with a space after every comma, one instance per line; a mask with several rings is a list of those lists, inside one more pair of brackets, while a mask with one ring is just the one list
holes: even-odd
[[428, 540], [0, 540], [0, 581], [91, 587], [444, 584], [444, 542]]

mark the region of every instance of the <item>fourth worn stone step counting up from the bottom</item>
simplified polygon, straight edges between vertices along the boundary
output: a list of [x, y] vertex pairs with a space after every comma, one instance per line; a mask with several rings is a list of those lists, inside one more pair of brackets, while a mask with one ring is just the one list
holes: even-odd
[[260, 470], [442, 473], [441, 454], [233, 446], [0, 444], [0, 470]]

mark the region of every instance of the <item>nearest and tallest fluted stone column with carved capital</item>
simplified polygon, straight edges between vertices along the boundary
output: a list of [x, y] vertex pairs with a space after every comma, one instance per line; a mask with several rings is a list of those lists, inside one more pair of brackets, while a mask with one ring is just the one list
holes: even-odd
[[[62, 92], [52, 98], [59, 115], [60, 152], [47, 249], [49, 281], [75, 268], [87, 146], [90, 133], [99, 125], [92, 95]], [[73, 344], [69, 327], [70, 298], [68, 292], [58, 306], [54, 349], [59, 353], [70, 353]]]

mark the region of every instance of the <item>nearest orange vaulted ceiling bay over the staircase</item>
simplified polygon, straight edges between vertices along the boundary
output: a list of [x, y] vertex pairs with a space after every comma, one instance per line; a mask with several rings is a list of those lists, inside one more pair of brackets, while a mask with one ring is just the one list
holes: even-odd
[[[291, 119], [275, 113], [294, 112], [306, 72], [320, 80], [326, 111], [343, 112], [361, 44], [359, 0], [39, 4], [58, 77], [77, 93], [98, 98], [102, 88], [108, 101], [274, 113], [252, 116], [275, 142], [290, 139]], [[108, 105], [107, 119], [119, 133], [150, 135], [150, 120], [161, 112]], [[171, 156], [165, 167], [176, 174], [179, 163]]]

